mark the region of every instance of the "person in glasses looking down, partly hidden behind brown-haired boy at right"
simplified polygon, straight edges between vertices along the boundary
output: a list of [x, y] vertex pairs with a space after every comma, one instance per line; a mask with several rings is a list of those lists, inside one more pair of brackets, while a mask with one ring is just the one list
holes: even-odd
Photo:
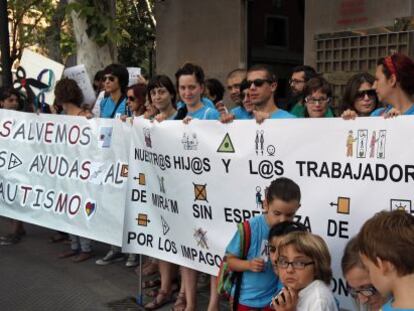
[[348, 283], [348, 293], [354, 298], [357, 310], [380, 310], [386, 299], [382, 298], [371, 284], [369, 273], [359, 258], [355, 238], [346, 245], [341, 265], [342, 273]]

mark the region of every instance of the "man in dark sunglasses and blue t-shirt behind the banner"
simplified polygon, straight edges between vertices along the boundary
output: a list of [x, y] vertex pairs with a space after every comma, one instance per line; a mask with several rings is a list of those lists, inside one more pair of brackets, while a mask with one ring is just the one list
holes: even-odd
[[265, 119], [295, 118], [285, 110], [279, 109], [275, 104], [277, 78], [266, 65], [255, 65], [247, 72], [247, 86], [250, 101], [254, 105], [253, 114], [258, 123]]

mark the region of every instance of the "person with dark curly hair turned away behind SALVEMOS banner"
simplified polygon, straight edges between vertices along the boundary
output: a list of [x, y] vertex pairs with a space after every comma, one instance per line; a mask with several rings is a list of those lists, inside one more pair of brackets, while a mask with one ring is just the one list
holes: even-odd
[[[75, 80], [61, 79], [56, 83], [54, 92], [56, 105], [61, 107], [66, 115], [92, 117], [90, 111], [81, 108], [83, 94]], [[73, 257], [72, 261], [78, 263], [93, 257], [91, 240], [73, 234], [70, 234], [69, 237], [71, 240], [70, 251], [59, 254], [59, 258]]]

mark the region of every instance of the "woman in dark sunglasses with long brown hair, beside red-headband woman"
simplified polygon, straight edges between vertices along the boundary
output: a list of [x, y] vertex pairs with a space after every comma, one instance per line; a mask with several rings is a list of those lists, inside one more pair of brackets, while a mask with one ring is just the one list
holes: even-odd
[[341, 116], [355, 112], [359, 117], [369, 116], [379, 108], [377, 93], [373, 89], [375, 78], [363, 72], [352, 76], [346, 84], [342, 99]]

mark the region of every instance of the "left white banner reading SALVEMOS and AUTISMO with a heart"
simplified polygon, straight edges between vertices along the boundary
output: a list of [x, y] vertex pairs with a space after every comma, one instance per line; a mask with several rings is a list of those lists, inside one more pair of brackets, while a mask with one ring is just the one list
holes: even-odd
[[0, 215], [121, 245], [130, 126], [0, 110]]

